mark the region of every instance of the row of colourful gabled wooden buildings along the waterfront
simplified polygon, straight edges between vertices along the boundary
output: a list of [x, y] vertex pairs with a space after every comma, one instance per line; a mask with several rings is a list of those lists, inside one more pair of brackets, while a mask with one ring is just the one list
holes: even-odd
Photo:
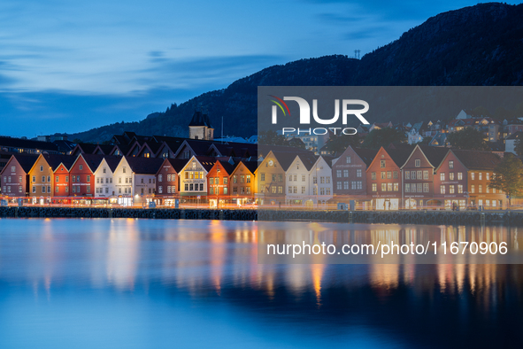
[[233, 149], [227, 156], [212, 154], [219, 149], [216, 144], [204, 150], [204, 141], [192, 142], [184, 148], [188, 157], [14, 154], [0, 173], [2, 194], [35, 204], [88, 199], [124, 206], [150, 201], [173, 206], [176, 199], [211, 206], [318, 206], [355, 200], [374, 210], [503, 208], [507, 202], [504, 193], [489, 187], [501, 159], [488, 151], [349, 147], [331, 159], [295, 148], [259, 146], [242, 156], [231, 156]]

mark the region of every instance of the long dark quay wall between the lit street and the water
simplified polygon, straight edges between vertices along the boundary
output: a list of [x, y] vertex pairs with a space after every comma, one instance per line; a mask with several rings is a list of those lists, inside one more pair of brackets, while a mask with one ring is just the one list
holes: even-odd
[[294, 211], [184, 208], [108, 208], [3, 206], [0, 217], [149, 218], [220, 221], [333, 221], [383, 224], [511, 224], [523, 225], [523, 212], [487, 211]]

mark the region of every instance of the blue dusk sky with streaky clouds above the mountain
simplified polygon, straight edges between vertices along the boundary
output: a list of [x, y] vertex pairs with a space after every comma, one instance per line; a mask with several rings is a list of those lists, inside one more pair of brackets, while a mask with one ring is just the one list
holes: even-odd
[[2, 0], [0, 135], [144, 119], [273, 65], [361, 56], [440, 12], [385, 0]]

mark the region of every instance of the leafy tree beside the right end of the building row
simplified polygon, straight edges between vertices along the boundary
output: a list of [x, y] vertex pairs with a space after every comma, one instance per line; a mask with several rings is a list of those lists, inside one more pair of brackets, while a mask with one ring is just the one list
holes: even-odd
[[523, 194], [523, 163], [513, 155], [505, 155], [503, 160], [494, 168], [494, 175], [488, 183], [490, 188], [504, 191], [511, 197]]

